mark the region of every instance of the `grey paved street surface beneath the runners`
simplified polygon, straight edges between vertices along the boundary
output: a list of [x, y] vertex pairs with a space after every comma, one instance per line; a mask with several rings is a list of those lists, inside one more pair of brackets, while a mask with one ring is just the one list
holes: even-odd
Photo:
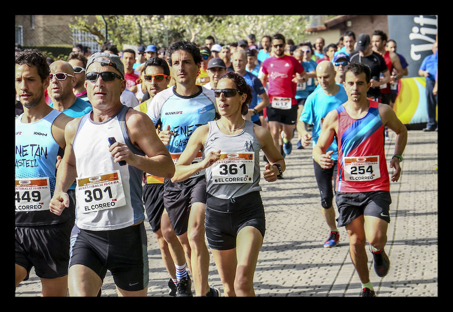
[[[386, 142], [389, 163], [395, 134]], [[296, 138], [292, 140], [295, 148]], [[338, 247], [323, 248], [329, 231], [320, 211], [313, 175], [312, 149], [293, 149], [287, 155], [284, 179], [261, 180], [266, 212], [266, 235], [255, 272], [257, 296], [355, 297], [360, 281], [349, 257], [344, 227]], [[391, 183], [391, 223], [386, 252], [389, 274], [378, 277], [368, 252], [370, 279], [377, 296], [438, 296], [438, 172], [437, 132], [410, 130], [403, 154], [402, 175]], [[261, 161], [261, 168], [264, 162]], [[442, 169], [440, 169], [442, 170]], [[444, 170], [444, 169], [443, 169]], [[389, 169], [393, 172], [393, 169]], [[337, 213], [338, 215], [338, 213]], [[148, 237], [148, 296], [167, 296], [165, 271], [156, 238], [145, 222]], [[209, 284], [222, 291], [212, 256]], [[193, 289], [193, 286], [192, 286]], [[32, 273], [16, 296], [39, 296], [39, 278]], [[117, 296], [110, 273], [102, 286], [103, 296]]]

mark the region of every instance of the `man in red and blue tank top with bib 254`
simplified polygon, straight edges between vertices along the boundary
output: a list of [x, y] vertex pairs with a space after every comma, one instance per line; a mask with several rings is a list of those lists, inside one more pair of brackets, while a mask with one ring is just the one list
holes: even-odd
[[370, 69], [354, 62], [344, 70], [343, 83], [348, 101], [329, 112], [324, 119], [321, 135], [313, 148], [313, 157], [321, 168], [332, 167], [326, 149], [334, 137], [338, 144], [336, 203], [338, 226], [345, 226], [349, 237], [349, 253], [362, 284], [361, 296], [375, 296], [369, 280], [366, 240], [374, 258], [374, 271], [387, 275], [390, 260], [384, 251], [387, 243], [390, 178], [384, 150], [384, 127], [396, 133], [395, 151], [390, 168], [395, 168], [391, 180], [400, 178], [401, 154], [406, 147], [407, 129], [389, 105], [370, 101]]

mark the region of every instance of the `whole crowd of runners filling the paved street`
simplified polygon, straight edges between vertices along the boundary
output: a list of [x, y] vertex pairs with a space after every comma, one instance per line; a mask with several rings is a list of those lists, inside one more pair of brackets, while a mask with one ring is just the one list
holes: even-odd
[[[393, 110], [407, 75], [396, 49], [376, 30], [328, 45], [277, 33], [93, 54], [74, 46], [67, 61], [16, 50], [15, 286], [34, 267], [42, 296], [102, 296], [110, 271], [118, 296], [145, 296], [148, 221], [169, 295], [254, 296], [260, 181], [284, 179], [297, 136], [294, 148], [313, 145], [321, 244], [335, 247], [345, 226], [360, 295], [375, 296], [366, 249], [385, 276], [390, 183], [407, 142]], [[221, 289], [208, 283], [209, 251]]]

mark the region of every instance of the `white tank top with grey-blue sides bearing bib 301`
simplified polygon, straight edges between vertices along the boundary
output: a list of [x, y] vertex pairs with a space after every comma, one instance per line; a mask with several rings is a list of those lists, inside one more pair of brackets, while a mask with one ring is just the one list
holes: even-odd
[[84, 115], [75, 134], [72, 148], [77, 167], [76, 224], [88, 230], [112, 230], [130, 226], [144, 219], [142, 203], [143, 172], [133, 166], [113, 162], [109, 137], [125, 143], [139, 155], [126, 130], [122, 106], [104, 122], [94, 122], [91, 112]]

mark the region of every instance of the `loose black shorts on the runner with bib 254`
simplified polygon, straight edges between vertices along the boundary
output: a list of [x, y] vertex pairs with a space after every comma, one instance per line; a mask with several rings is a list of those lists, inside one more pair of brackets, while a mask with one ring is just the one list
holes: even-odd
[[389, 191], [337, 192], [335, 199], [339, 213], [338, 226], [344, 226], [361, 215], [378, 217], [390, 223], [389, 211], [392, 199]]

